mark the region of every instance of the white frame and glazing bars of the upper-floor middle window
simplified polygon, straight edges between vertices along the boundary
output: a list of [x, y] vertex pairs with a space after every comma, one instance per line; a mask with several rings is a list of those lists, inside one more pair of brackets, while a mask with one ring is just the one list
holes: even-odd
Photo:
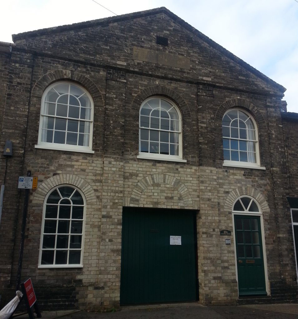
[[[179, 116], [179, 130], [173, 131], [173, 132], [177, 133], [179, 136], [179, 148], [178, 148], [179, 155], [156, 154], [156, 153], [149, 153], [149, 152], [141, 152], [140, 151], [140, 149], [141, 149], [141, 146], [140, 146], [141, 130], [148, 130], [149, 132], [150, 132], [150, 130], [151, 131], [159, 131], [159, 132], [161, 132], [161, 131], [171, 132], [171, 130], [161, 130], [161, 129], [152, 129], [150, 127], [149, 128], [148, 127], [141, 127], [141, 109], [148, 101], [150, 101], [152, 99], [164, 100], [167, 103], [171, 104]], [[150, 115], [150, 117], [151, 117], [151, 115]], [[160, 142], [160, 140], [159, 140], [159, 142]], [[180, 113], [179, 108], [171, 100], [169, 100], [163, 96], [151, 96], [148, 99], [144, 100], [143, 103], [141, 104], [140, 112], [139, 112], [139, 155], [137, 156], [137, 158], [138, 159], [153, 159], [153, 160], [186, 163], [186, 160], [182, 158], [182, 119], [181, 119], [181, 113]]]

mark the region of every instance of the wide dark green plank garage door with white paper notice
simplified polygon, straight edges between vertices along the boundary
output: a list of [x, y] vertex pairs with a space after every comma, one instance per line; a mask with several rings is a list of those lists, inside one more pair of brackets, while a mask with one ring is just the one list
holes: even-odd
[[124, 208], [120, 304], [197, 300], [195, 212]]

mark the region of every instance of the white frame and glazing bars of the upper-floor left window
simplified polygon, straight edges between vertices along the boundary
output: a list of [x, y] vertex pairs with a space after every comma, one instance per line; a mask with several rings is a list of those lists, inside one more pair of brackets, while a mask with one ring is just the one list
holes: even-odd
[[[45, 98], [47, 96], [47, 94], [49, 93], [49, 91], [55, 87], [56, 85], [59, 84], [68, 84], [68, 85], [73, 85], [78, 87], [80, 90], [84, 91], [84, 94], [86, 94], [86, 96], [88, 97], [88, 99], [90, 100], [91, 103], [91, 110], [90, 110], [90, 120], [80, 120], [80, 121], [84, 121], [84, 122], [89, 122], [90, 123], [90, 132], [89, 132], [89, 145], [88, 146], [80, 146], [80, 145], [69, 145], [66, 144], [66, 138], [65, 138], [65, 144], [58, 144], [58, 143], [53, 143], [53, 142], [43, 142], [42, 141], [42, 129], [45, 129], [45, 127], [43, 127], [44, 125], [44, 119], [45, 118], [62, 118], [62, 119], [66, 119], [66, 120], [77, 120], [77, 118], [71, 118], [69, 116], [66, 117], [59, 117], [57, 115], [53, 115], [53, 116], [49, 116], [48, 114], [45, 114]], [[69, 96], [71, 94], [68, 94]], [[57, 105], [57, 103], [56, 103]], [[91, 95], [81, 86], [78, 85], [77, 83], [73, 83], [70, 81], [60, 81], [60, 82], [55, 82], [53, 84], [51, 84], [49, 87], [47, 87], [47, 89], [44, 91], [43, 95], [42, 95], [42, 103], [41, 103], [41, 112], [40, 112], [40, 120], [39, 120], [39, 131], [38, 131], [38, 143], [37, 145], [35, 145], [35, 148], [41, 148], [41, 149], [50, 149], [50, 150], [60, 150], [60, 151], [70, 151], [70, 152], [82, 152], [82, 153], [94, 153], [94, 151], [92, 150], [92, 139], [93, 139], [93, 116], [94, 116], [94, 104], [93, 104], [93, 99], [91, 97]], [[67, 128], [66, 128], [67, 131]]]

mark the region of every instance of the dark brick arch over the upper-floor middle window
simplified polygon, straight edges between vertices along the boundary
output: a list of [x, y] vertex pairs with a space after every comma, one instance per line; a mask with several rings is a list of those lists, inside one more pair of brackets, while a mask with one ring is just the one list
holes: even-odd
[[165, 96], [172, 99], [177, 105], [177, 107], [179, 108], [182, 114], [182, 118], [183, 119], [186, 117], [191, 118], [191, 113], [188, 108], [188, 105], [186, 101], [181, 97], [181, 95], [177, 93], [176, 91], [161, 85], [149, 86], [146, 89], [139, 92], [134, 98], [133, 108], [137, 112], [139, 112], [141, 104], [144, 102], [144, 100], [148, 99], [150, 96], [153, 96], [153, 95]]

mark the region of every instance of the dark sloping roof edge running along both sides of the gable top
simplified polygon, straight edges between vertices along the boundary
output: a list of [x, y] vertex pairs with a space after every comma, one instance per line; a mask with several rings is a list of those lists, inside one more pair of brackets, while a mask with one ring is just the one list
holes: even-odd
[[253, 73], [256, 75], [258, 78], [264, 80], [268, 84], [272, 85], [275, 87], [279, 92], [284, 93], [286, 91], [286, 88], [283, 87], [282, 85], [276, 83], [273, 81], [271, 78], [268, 78], [266, 75], [264, 75], [262, 72], [258, 71], [239, 57], [235, 56], [233, 53], [216, 43], [215, 41], [211, 40], [209, 37], [207, 37], [205, 34], [202, 32], [198, 31], [195, 29], [193, 26], [185, 22], [183, 19], [179, 18], [177, 15], [172, 13], [170, 10], [168, 10], [165, 7], [160, 7], [160, 8], [155, 8], [155, 9], [150, 9], [150, 10], [145, 10], [145, 11], [139, 11], [139, 12], [133, 12], [133, 13], [128, 13], [128, 14], [122, 14], [118, 16], [113, 16], [113, 17], [108, 17], [108, 18], [103, 18], [103, 19], [96, 19], [96, 20], [91, 20], [91, 21], [85, 21], [85, 22], [79, 22], [79, 23], [73, 23], [71, 25], [63, 25], [63, 26], [56, 26], [56, 27], [51, 27], [51, 28], [44, 28], [44, 29], [39, 29], [39, 30], [34, 30], [34, 31], [28, 31], [28, 32], [23, 32], [23, 33], [18, 33], [18, 34], [12, 34], [12, 40], [15, 43], [18, 43], [18, 41], [22, 41], [25, 39], [29, 38], [36, 38], [39, 36], [44, 36], [44, 35], [53, 35], [61, 32], [67, 32], [67, 31], [74, 31], [74, 30], [83, 30], [85, 28], [90, 28], [90, 27], [105, 27], [109, 26], [113, 23], [117, 22], [123, 22], [123, 21], [128, 21], [128, 20], [133, 20], [137, 18], [142, 18], [142, 17], [148, 17], [148, 16], [153, 16], [157, 15], [160, 13], [164, 13], [167, 15], [169, 18], [171, 18], [173, 21], [175, 21], [177, 24], [179, 24], [181, 27], [185, 28], [187, 31], [193, 33], [196, 37], [201, 39], [202, 41], [206, 42], [208, 45], [213, 47], [214, 49], [218, 50], [221, 54], [227, 56], [234, 62], [238, 63], [245, 69], [247, 69], [249, 72]]

